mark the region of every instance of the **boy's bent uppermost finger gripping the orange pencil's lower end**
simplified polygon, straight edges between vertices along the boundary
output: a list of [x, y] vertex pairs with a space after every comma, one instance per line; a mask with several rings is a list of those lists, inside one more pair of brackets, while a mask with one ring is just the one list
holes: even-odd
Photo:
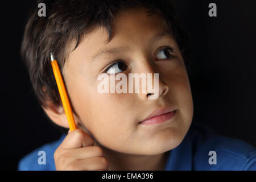
[[63, 149], [72, 149], [93, 146], [93, 144], [93, 138], [90, 137], [88, 133], [85, 133], [82, 129], [76, 129], [71, 131], [71, 133], [68, 133], [59, 147]]

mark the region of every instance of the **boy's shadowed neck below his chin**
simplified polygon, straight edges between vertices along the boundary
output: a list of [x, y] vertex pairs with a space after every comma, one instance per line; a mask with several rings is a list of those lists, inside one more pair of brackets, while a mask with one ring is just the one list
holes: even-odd
[[109, 171], [163, 171], [169, 154], [169, 151], [158, 155], [124, 154], [109, 150], [99, 143], [95, 145], [102, 148], [104, 158], [109, 163]]

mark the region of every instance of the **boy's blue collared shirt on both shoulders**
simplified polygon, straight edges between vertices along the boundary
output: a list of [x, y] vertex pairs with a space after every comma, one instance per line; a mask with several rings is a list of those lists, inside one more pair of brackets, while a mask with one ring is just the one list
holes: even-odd
[[[65, 135], [24, 156], [18, 170], [56, 170], [53, 154], [64, 138]], [[38, 162], [42, 156], [39, 151], [46, 154], [45, 164]], [[256, 149], [241, 140], [217, 135], [208, 127], [192, 125], [179, 146], [168, 151], [164, 170], [256, 171]]]

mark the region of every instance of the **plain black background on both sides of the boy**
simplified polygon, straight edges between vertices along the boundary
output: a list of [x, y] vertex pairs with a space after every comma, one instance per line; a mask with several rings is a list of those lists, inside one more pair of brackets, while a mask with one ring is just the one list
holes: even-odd
[[[1, 1], [0, 169], [61, 133], [36, 102], [19, 56], [28, 10], [34, 1]], [[217, 4], [217, 17], [208, 5]], [[255, 1], [176, 0], [181, 22], [192, 37], [193, 122], [256, 147]]]

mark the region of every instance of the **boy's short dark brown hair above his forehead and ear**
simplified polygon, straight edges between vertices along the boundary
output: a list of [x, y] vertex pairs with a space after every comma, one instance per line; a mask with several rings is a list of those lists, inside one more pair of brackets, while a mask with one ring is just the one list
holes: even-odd
[[[46, 17], [38, 16], [38, 4], [41, 2], [46, 4]], [[52, 73], [50, 52], [57, 59], [62, 71], [67, 43], [75, 39], [77, 47], [86, 32], [93, 31], [96, 26], [106, 28], [109, 32], [108, 41], [110, 41], [112, 38], [111, 24], [119, 10], [143, 5], [148, 7], [149, 15], [162, 14], [184, 56], [188, 35], [180, 26], [171, 1], [46, 0], [36, 3], [24, 31], [21, 55], [27, 66], [35, 96], [39, 104], [45, 107], [47, 100], [55, 105], [61, 105]], [[185, 64], [187, 64], [186, 61]]]

